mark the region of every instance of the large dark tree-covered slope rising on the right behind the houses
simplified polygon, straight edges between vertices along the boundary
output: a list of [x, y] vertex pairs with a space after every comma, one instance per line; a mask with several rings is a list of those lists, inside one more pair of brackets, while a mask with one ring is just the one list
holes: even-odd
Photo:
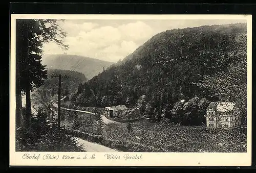
[[159, 33], [122, 61], [81, 83], [80, 106], [138, 106], [157, 121], [203, 123], [211, 101], [236, 102], [246, 116], [246, 23]]

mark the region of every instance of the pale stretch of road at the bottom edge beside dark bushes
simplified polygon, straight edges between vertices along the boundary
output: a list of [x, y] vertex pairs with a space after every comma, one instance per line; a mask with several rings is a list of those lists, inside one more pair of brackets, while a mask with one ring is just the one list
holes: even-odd
[[80, 138], [77, 138], [77, 139], [79, 144], [83, 144], [83, 149], [86, 152], [118, 152], [116, 150], [110, 149], [109, 147], [106, 147], [97, 143], [92, 143]]

